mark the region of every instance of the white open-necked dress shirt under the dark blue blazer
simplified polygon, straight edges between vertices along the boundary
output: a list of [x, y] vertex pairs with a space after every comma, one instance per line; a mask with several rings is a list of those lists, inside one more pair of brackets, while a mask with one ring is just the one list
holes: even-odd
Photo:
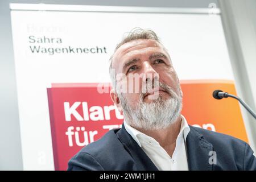
[[176, 147], [172, 158], [154, 138], [134, 129], [125, 121], [124, 126], [126, 131], [133, 137], [159, 170], [188, 171], [187, 152], [184, 140], [186, 140], [190, 128], [183, 115], [181, 115], [181, 118], [180, 133], [176, 139]]

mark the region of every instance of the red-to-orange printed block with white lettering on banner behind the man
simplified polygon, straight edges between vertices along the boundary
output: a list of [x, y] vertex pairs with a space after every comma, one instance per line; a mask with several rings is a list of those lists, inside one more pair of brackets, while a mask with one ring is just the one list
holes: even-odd
[[[97, 85], [52, 84], [52, 88], [47, 89], [55, 170], [66, 170], [68, 160], [82, 147], [122, 125], [123, 116], [114, 107], [109, 93], [98, 92]], [[229, 134], [247, 142], [238, 102], [212, 97], [215, 89], [236, 94], [232, 81], [181, 81], [181, 89], [182, 114], [189, 125]]]

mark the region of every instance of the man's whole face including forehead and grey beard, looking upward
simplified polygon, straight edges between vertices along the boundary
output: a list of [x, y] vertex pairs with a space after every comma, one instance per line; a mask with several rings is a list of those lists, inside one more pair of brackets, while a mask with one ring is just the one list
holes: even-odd
[[[145, 39], [123, 44], [114, 53], [112, 68], [118, 92], [112, 92], [111, 97], [129, 125], [158, 130], [176, 121], [182, 108], [182, 92], [170, 57], [161, 44]], [[118, 75], [122, 75], [121, 79]], [[123, 85], [127, 88], [125, 92], [121, 89]]]

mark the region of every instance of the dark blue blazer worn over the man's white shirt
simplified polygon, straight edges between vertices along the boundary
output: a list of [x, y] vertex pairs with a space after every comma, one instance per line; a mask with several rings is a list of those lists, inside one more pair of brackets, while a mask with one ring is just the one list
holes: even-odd
[[[256, 170], [250, 146], [240, 139], [198, 127], [187, 135], [189, 170]], [[209, 163], [216, 152], [217, 163]], [[212, 161], [212, 160], [211, 160]], [[68, 163], [68, 170], [158, 170], [122, 126], [82, 148]]]

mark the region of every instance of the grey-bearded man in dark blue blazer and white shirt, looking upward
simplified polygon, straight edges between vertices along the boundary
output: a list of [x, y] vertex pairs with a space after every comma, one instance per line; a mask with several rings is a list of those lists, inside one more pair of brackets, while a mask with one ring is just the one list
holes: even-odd
[[256, 170], [247, 143], [188, 125], [179, 78], [154, 31], [129, 32], [109, 71], [122, 128], [82, 148], [68, 170]]

